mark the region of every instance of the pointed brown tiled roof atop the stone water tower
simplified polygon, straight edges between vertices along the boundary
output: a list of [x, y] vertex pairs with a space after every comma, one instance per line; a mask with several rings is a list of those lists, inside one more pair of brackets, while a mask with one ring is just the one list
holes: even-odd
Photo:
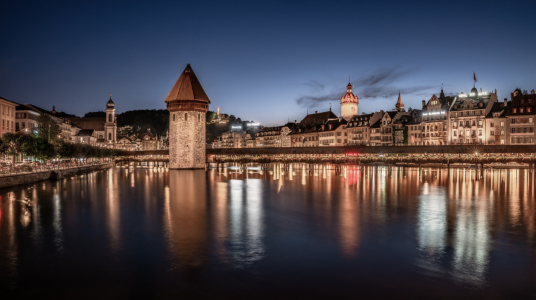
[[201, 83], [195, 76], [190, 64], [182, 71], [181, 76], [166, 97], [166, 102], [175, 100], [204, 100], [210, 103]]

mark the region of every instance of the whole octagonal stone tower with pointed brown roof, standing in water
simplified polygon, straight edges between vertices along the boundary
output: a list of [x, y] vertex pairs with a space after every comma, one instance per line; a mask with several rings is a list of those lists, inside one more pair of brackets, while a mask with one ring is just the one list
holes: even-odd
[[189, 64], [166, 97], [166, 104], [169, 168], [205, 168], [205, 116], [210, 100]]

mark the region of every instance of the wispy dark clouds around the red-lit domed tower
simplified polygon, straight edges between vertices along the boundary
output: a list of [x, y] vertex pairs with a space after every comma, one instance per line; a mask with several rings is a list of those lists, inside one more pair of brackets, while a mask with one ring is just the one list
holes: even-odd
[[[417, 69], [402, 68], [400, 66], [392, 68], [382, 68], [374, 71], [372, 74], [359, 77], [353, 80], [354, 92], [360, 100], [375, 98], [391, 98], [402, 94], [411, 94], [424, 92], [433, 86], [415, 85], [398, 88], [394, 86], [397, 81], [415, 73]], [[296, 99], [298, 105], [315, 107], [323, 102], [339, 101], [344, 90], [335, 88], [333, 91], [326, 92], [326, 86], [318, 81], [310, 80], [303, 83], [310, 88], [309, 95], [304, 95]]]

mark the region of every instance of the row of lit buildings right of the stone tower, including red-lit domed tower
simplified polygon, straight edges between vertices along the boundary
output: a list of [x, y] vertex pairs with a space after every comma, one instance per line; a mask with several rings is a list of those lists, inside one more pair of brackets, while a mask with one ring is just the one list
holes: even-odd
[[467, 94], [445, 96], [443, 88], [422, 101], [421, 109], [404, 108], [401, 95], [391, 111], [358, 112], [359, 100], [349, 83], [341, 97], [341, 116], [331, 109], [308, 114], [300, 122], [249, 131], [229, 131], [214, 148], [421, 146], [421, 145], [534, 145], [536, 95], [516, 89], [498, 101], [497, 90], [474, 86]]

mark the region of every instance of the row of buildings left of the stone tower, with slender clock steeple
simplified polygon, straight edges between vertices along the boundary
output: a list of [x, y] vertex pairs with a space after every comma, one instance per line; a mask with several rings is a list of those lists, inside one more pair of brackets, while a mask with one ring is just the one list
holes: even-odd
[[19, 104], [0, 98], [2, 112], [2, 130], [4, 134], [23, 132], [36, 134], [38, 132], [38, 117], [48, 115], [59, 127], [60, 133], [54, 139], [72, 143], [88, 144], [97, 147], [116, 148], [129, 151], [167, 149], [167, 137], [158, 137], [150, 131], [141, 134], [117, 134], [117, 118], [115, 103], [112, 96], [106, 103], [106, 117], [63, 117], [56, 112], [32, 104]]

